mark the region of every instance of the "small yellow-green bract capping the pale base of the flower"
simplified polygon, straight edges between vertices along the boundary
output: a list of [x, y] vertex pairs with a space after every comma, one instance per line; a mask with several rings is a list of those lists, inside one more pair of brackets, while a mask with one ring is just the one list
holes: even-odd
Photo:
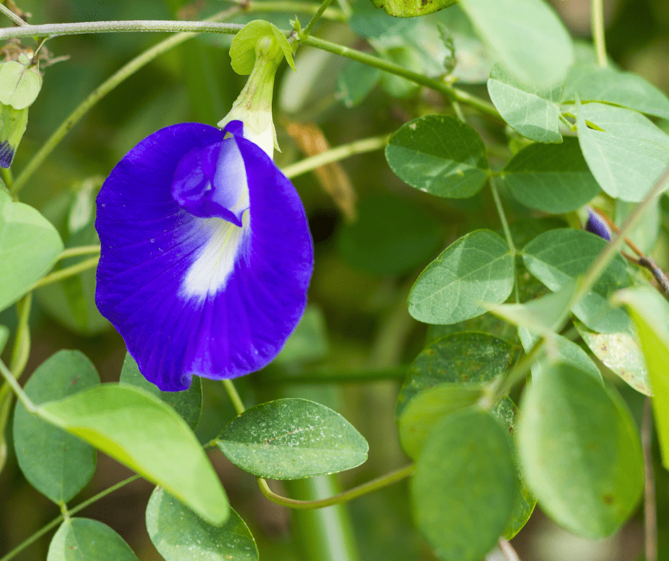
[[241, 75], [251, 74], [253, 65], [256, 64], [256, 48], [258, 42], [263, 38], [273, 41], [270, 56], [280, 54], [285, 57], [290, 68], [296, 71], [295, 62], [293, 62], [293, 49], [290, 47], [288, 39], [273, 23], [262, 19], [247, 23], [233, 38], [230, 46], [232, 69]]

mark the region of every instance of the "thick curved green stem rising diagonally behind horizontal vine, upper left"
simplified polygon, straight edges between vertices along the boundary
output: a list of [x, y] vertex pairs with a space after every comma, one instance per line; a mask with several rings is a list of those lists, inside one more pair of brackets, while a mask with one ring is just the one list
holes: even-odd
[[[211, 18], [209, 18], [207, 21], [227, 19], [234, 14], [238, 14], [239, 11], [240, 9], [234, 6], [231, 9], [218, 12], [218, 14], [211, 16]], [[102, 82], [98, 88], [95, 88], [95, 90], [93, 90], [93, 92], [88, 95], [88, 98], [83, 100], [78, 108], [71, 112], [70, 115], [61, 123], [60, 127], [58, 127], [56, 131], [54, 131], [53, 134], [48, 137], [48, 140], [32, 157], [31, 161], [28, 162], [26, 167], [21, 170], [21, 174], [19, 174], [19, 177], [16, 178], [16, 182], [14, 182], [14, 186], [11, 188], [11, 193], [16, 194], [21, 190], [28, 179], [30, 179], [30, 177], [33, 175], [35, 170], [41, 166], [48, 155], [53, 152], [53, 149], [56, 148], [60, 141], [63, 140], [65, 135], [70, 132], [72, 127], [74, 127], [74, 125], [76, 125], [83, 118], [83, 116], [88, 113], [88, 111], [93, 108], [96, 103], [98, 103], [98, 101], [104, 98], [107, 93], [110, 93], [110, 91], [116, 88], [116, 86], [122, 83], [122, 81], [126, 78], [130, 78], [130, 76], [137, 72], [137, 70], [153, 61], [154, 58], [162, 55], [162, 53], [166, 53], [171, 48], [176, 47], [184, 41], [188, 41], [194, 36], [196, 36], [195, 33], [177, 33], [177, 35], [173, 35], [167, 39], [164, 39], [163, 41], [160, 41], [156, 45], [147, 49], [147, 51], [144, 51], [144, 53], [141, 53], [139, 56], [133, 58], [132, 61], [122, 66], [122, 68], [117, 70], [114, 74], [107, 78], [107, 80]]]

